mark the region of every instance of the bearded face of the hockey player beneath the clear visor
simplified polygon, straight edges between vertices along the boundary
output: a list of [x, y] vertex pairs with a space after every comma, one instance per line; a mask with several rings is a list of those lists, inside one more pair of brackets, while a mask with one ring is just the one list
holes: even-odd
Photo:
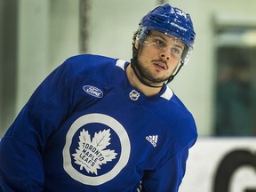
[[140, 44], [138, 63], [148, 83], [162, 84], [177, 68], [185, 44], [162, 32], [150, 31]]

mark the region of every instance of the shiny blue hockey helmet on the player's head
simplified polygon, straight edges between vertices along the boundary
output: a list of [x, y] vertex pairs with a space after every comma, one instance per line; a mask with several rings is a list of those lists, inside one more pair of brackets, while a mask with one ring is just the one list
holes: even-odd
[[163, 32], [186, 44], [181, 61], [183, 64], [188, 62], [196, 37], [188, 13], [182, 12], [179, 8], [172, 7], [170, 4], [158, 5], [140, 20], [136, 37], [140, 43], [145, 40], [150, 30]]

